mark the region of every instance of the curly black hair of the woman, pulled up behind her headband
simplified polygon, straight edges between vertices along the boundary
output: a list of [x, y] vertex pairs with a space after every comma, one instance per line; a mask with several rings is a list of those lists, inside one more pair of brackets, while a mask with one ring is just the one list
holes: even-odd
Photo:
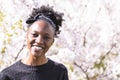
[[28, 27], [34, 23], [36, 20], [31, 21], [31, 19], [34, 19], [35, 16], [38, 14], [42, 14], [45, 17], [49, 18], [52, 20], [52, 22], [55, 24], [55, 36], [60, 33], [59, 28], [62, 26], [62, 21], [63, 21], [63, 13], [59, 13], [53, 10], [53, 6], [44, 6], [42, 5], [40, 8], [33, 8], [32, 14], [30, 14], [30, 17], [26, 20], [26, 23], [28, 24]]

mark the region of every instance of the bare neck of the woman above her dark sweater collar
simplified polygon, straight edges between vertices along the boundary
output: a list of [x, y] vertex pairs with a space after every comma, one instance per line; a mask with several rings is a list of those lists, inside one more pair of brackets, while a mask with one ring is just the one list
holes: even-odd
[[23, 59], [22, 62], [27, 65], [37, 66], [47, 63], [48, 59], [46, 56], [35, 57], [29, 55], [27, 58]]

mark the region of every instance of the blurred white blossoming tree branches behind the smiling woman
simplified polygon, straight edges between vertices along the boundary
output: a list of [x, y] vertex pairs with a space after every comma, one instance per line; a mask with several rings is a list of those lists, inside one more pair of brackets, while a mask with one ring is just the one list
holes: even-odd
[[120, 80], [120, 0], [0, 0], [0, 70], [27, 55], [25, 20], [48, 4], [65, 21], [47, 56], [70, 80]]

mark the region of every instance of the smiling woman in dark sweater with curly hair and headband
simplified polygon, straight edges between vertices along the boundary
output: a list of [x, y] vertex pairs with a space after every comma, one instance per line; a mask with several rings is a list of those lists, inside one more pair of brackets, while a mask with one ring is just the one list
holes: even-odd
[[60, 32], [62, 21], [62, 14], [49, 6], [33, 9], [26, 21], [29, 54], [4, 69], [0, 80], [68, 80], [66, 67], [45, 56]]

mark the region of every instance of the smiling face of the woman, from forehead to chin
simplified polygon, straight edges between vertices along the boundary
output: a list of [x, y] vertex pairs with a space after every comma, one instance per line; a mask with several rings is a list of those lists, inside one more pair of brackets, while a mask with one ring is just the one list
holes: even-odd
[[54, 29], [46, 21], [34, 22], [27, 31], [27, 47], [30, 55], [39, 57], [45, 53], [54, 42]]

